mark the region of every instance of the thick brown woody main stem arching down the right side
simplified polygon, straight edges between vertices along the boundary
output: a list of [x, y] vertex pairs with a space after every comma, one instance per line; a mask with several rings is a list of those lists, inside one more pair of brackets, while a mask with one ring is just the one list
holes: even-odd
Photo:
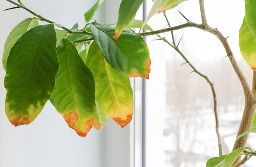
[[[175, 31], [178, 29], [186, 28], [186, 27], [195, 27], [195, 28], [207, 31], [209, 33], [212, 33], [220, 40], [223, 47], [225, 48], [227, 57], [229, 58], [231, 65], [241, 82], [241, 85], [243, 87], [243, 91], [245, 94], [245, 108], [243, 111], [243, 117], [240, 122], [240, 127], [239, 127], [238, 134], [237, 134], [237, 136], [239, 136], [243, 132], [247, 131], [250, 127], [252, 127], [254, 113], [256, 110], [256, 72], [254, 71], [253, 88], [251, 91], [245, 76], [243, 75], [242, 71], [240, 70], [240, 68], [236, 62], [236, 59], [233, 56], [233, 53], [229, 47], [227, 39], [222, 35], [222, 33], [220, 33], [220, 31], [218, 31], [217, 28], [214, 29], [207, 24], [203, 2], [204, 2], [203, 0], [200, 0], [200, 11], [201, 11], [201, 15], [202, 15], [202, 24], [197, 24], [197, 23], [194, 23], [191, 21], [187, 21], [187, 23], [182, 24], [182, 25], [178, 25], [175, 27], [167, 28], [167, 29], [161, 29], [161, 30], [157, 30], [157, 31], [151, 31], [151, 32], [147, 32], [147, 33], [139, 33], [139, 35], [149, 36], [149, 35], [155, 35], [155, 34], [164, 33], [164, 32], [168, 32], [168, 31]], [[217, 126], [216, 126], [216, 129], [218, 129]], [[246, 145], [247, 138], [248, 138], [248, 135], [245, 135], [245, 136], [239, 138], [238, 140], [236, 140], [236, 142], [234, 143], [233, 151], [239, 147], [244, 147]], [[221, 147], [221, 145], [220, 145], [220, 147]], [[239, 162], [241, 162], [241, 161], [239, 161]]]

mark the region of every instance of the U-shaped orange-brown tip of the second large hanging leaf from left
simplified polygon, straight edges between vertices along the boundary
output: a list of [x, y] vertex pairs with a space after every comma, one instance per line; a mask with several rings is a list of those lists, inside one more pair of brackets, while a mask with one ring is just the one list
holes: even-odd
[[79, 130], [79, 128], [76, 127], [76, 121], [78, 120], [78, 118], [79, 118], [79, 115], [76, 113], [76, 111], [72, 111], [64, 116], [64, 119], [67, 122], [67, 125], [70, 128], [74, 129], [79, 136], [85, 137], [90, 131], [90, 129], [92, 128], [95, 118], [85, 122], [85, 128], [83, 129], [83, 131]]

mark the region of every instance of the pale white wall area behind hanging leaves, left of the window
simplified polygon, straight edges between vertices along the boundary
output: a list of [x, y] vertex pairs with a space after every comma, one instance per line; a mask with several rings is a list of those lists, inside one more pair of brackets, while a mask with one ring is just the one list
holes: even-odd
[[[72, 27], [78, 22], [82, 28], [85, 25], [83, 14], [96, 0], [22, 2], [36, 13], [65, 27]], [[120, 2], [103, 2], [95, 16], [97, 22], [116, 22]], [[22, 9], [2, 12], [13, 5], [5, 0], [0, 0], [0, 4], [2, 60], [4, 42], [11, 29], [25, 18], [33, 16]], [[30, 125], [11, 125], [4, 112], [4, 75], [5, 71], [1, 65], [0, 167], [129, 167], [132, 164], [129, 125], [121, 130], [119, 125], [109, 120], [101, 131], [92, 129], [85, 138], [81, 138], [67, 126], [49, 102]]]

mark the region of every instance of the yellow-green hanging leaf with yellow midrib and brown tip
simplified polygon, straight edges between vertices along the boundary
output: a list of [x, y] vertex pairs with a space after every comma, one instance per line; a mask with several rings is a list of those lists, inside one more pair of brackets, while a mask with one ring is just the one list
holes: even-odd
[[94, 76], [96, 102], [109, 118], [125, 127], [132, 120], [133, 112], [129, 78], [106, 62], [96, 42], [90, 46], [86, 65]]

